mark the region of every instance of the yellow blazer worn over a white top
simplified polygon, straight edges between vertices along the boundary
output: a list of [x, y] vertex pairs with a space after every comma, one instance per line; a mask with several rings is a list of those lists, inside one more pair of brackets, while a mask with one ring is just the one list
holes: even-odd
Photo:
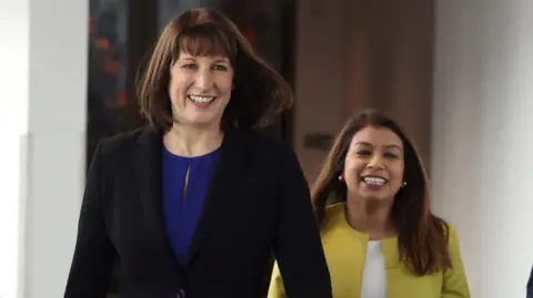
[[[349, 226], [344, 205], [341, 203], [326, 208], [325, 216], [329, 220], [322, 233], [322, 245], [330, 268], [333, 298], [360, 298], [369, 236]], [[382, 249], [386, 267], [388, 298], [470, 298], [459, 238], [453, 226], [450, 226], [453, 270], [419, 277], [400, 261], [398, 238], [382, 240]], [[275, 264], [268, 298], [281, 297], [285, 297], [285, 294]]]

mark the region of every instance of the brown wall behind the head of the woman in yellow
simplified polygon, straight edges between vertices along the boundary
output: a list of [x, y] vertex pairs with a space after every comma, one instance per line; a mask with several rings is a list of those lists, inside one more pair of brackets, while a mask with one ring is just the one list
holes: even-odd
[[346, 117], [378, 107], [430, 158], [433, 0], [300, 1], [294, 147], [312, 183], [325, 152], [304, 136], [338, 133]]

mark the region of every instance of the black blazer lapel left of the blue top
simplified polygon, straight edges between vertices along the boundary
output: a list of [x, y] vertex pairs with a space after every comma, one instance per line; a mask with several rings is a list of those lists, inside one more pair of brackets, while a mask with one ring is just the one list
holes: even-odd
[[165, 234], [161, 199], [161, 151], [162, 135], [153, 127], [145, 127], [138, 138], [135, 152], [137, 187], [145, 213], [147, 225], [154, 235], [155, 246], [170, 260], [179, 273], [178, 258], [172, 251]]

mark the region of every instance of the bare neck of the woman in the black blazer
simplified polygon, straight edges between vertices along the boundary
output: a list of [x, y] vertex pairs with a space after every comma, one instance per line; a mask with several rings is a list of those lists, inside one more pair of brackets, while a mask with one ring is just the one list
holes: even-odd
[[215, 151], [222, 144], [224, 134], [219, 129], [202, 129], [177, 124], [164, 135], [168, 151], [180, 156], [200, 156]]

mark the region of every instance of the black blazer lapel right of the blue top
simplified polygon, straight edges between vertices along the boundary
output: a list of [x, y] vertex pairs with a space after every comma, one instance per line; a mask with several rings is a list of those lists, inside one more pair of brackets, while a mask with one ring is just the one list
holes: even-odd
[[189, 247], [188, 265], [193, 261], [195, 253], [201, 248], [210, 229], [215, 225], [219, 216], [224, 212], [232, 198], [232, 188], [239, 182], [241, 169], [245, 164], [249, 151], [247, 143], [239, 131], [229, 131], [220, 147], [219, 160], [213, 169], [211, 182], [203, 205], [202, 215], [197, 232]]

